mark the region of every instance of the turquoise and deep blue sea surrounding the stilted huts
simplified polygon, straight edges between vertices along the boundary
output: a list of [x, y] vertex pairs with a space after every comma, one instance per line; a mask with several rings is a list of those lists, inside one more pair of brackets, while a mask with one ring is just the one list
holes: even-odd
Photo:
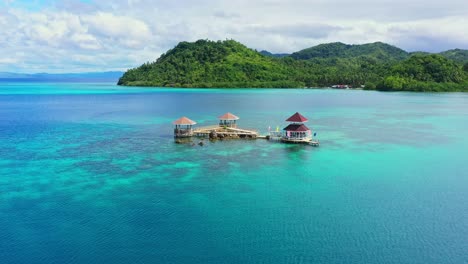
[[[321, 146], [174, 144], [296, 111]], [[468, 94], [0, 84], [1, 263], [468, 263]]]

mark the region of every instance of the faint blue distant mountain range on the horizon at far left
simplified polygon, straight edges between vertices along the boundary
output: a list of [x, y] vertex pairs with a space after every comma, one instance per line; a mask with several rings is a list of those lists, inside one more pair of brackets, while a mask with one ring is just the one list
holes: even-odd
[[25, 82], [116, 82], [123, 72], [86, 72], [86, 73], [11, 73], [0, 72], [0, 81]]

